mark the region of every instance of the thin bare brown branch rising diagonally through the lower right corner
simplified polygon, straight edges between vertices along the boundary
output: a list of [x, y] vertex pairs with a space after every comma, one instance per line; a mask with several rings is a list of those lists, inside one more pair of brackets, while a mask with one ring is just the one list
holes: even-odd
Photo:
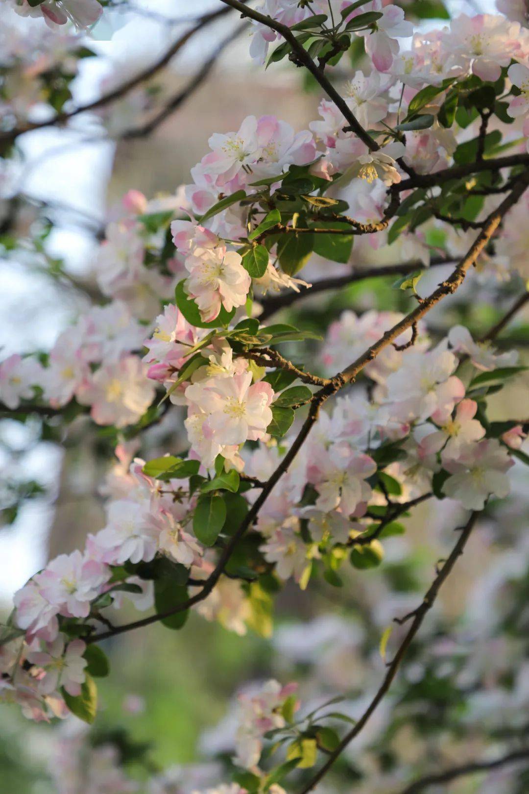
[[472, 513], [464, 530], [460, 534], [458, 538], [458, 542], [454, 545], [454, 548], [450, 552], [450, 556], [447, 557], [447, 561], [444, 563], [443, 567], [439, 570], [437, 576], [435, 576], [435, 580], [431, 587], [427, 591], [426, 595], [424, 595], [423, 602], [421, 603], [420, 607], [416, 610], [416, 615], [413, 619], [412, 625], [409, 627], [407, 634], [404, 637], [404, 640], [401, 642], [397, 653], [393, 657], [393, 661], [388, 667], [387, 673], [384, 676], [384, 680], [378, 688], [377, 693], [375, 694], [373, 700], [371, 700], [369, 706], [366, 708], [366, 711], [362, 714], [358, 722], [355, 723], [355, 726], [351, 728], [345, 734], [339, 745], [336, 747], [335, 750], [332, 751], [332, 754], [328, 757], [328, 760], [325, 761], [324, 765], [313, 775], [304, 788], [301, 789], [300, 794], [308, 794], [308, 792], [312, 791], [312, 788], [316, 786], [320, 782], [320, 780], [328, 773], [328, 770], [331, 769], [332, 765], [335, 761], [339, 758], [339, 756], [343, 753], [343, 750], [352, 742], [352, 740], [358, 736], [360, 731], [366, 725], [370, 716], [376, 711], [378, 704], [381, 703], [381, 700], [384, 699], [386, 693], [389, 691], [391, 684], [393, 683], [393, 679], [397, 675], [398, 669], [401, 666], [401, 662], [404, 659], [406, 652], [408, 651], [409, 646], [412, 644], [413, 639], [415, 638], [417, 632], [422, 625], [424, 618], [426, 617], [428, 611], [431, 610], [435, 599], [439, 593], [440, 588], [442, 587], [443, 583], [447, 580], [451, 570], [454, 568], [458, 557], [460, 557], [463, 553], [463, 549], [465, 549], [466, 542], [470, 537], [470, 533], [472, 532], [474, 523], [477, 518], [477, 513]]

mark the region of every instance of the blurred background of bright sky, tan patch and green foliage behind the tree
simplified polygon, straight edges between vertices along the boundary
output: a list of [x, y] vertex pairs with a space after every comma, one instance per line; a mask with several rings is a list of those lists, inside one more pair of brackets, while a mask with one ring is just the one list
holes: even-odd
[[[178, 19], [195, 17], [217, 5], [213, 0], [143, 0], [136, 4], [136, 11], [118, 8], [105, 13], [105, 21], [96, 26], [90, 40], [98, 57], [83, 61], [73, 84], [75, 102], [90, 102], [141, 71], [189, 25]], [[475, 13], [476, 7], [487, 10], [493, 3], [447, 5], [455, 11], [472, 8]], [[20, 24], [40, 22], [21, 20]], [[155, 80], [153, 107], [187, 83], [234, 25], [234, 18], [224, 18], [190, 40]], [[139, 91], [103, 114], [80, 115], [67, 130], [50, 127], [21, 139], [17, 186], [35, 203], [46, 203], [52, 231], [45, 256], [28, 254], [17, 260], [0, 260], [2, 357], [51, 348], [59, 333], [90, 303], [97, 290], [93, 265], [98, 237], [105, 222], [119, 214], [125, 191], [134, 187], [148, 197], [174, 195], [207, 150], [210, 134], [238, 129], [248, 114], [273, 113], [296, 129], [304, 129], [316, 118], [319, 94], [314, 87], [304, 83], [291, 66], [266, 72], [255, 67], [247, 54], [247, 37], [243, 31], [224, 49], [208, 79], [149, 136], [119, 140], [123, 129], [148, 118], [151, 112], [144, 91]], [[384, 252], [381, 256], [383, 259]], [[54, 260], [60, 261], [59, 274], [52, 266]], [[320, 261], [311, 267], [309, 276], [316, 279], [340, 266]], [[424, 276], [420, 290], [428, 291], [439, 277], [439, 270]], [[472, 288], [476, 289], [475, 283]], [[432, 312], [434, 328], [442, 329], [463, 316], [477, 328], [487, 327], [495, 316], [487, 287], [478, 287], [480, 299], [473, 303], [468, 289], [458, 293], [450, 310]], [[509, 288], [505, 291], [508, 295]], [[398, 310], [403, 302], [404, 296], [392, 290], [390, 282], [377, 279], [349, 287], [339, 295], [300, 303], [296, 322], [317, 328], [346, 307]], [[519, 328], [515, 332], [520, 333]], [[309, 347], [305, 355], [316, 355], [316, 347]], [[513, 410], [517, 415], [526, 388], [527, 384], [519, 384], [508, 397], [503, 396], [494, 418], [511, 418]], [[182, 449], [176, 412], [171, 421], [148, 434], [144, 457], [166, 451], [167, 439], [171, 449]], [[88, 532], [103, 526], [98, 488], [109, 459], [102, 453], [98, 434], [87, 433], [84, 427], [72, 426], [58, 443], [40, 440], [32, 422], [21, 425], [5, 420], [0, 422], [0, 464], [6, 482], [34, 480], [42, 488], [42, 493], [15, 507], [8, 488], [4, 494], [10, 518], [0, 528], [0, 612], [4, 616], [10, 611], [13, 592], [48, 557], [82, 546]], [[514, 480], [519, 483], [515, 494], [507, 512], [498, 519], [508, 521], [505, 546], [524, 522], [523, 472], [516, 469]], [[229, 718], [228, 723], [221, 721], [228, 713], [229, 698], [246, 681], [277, 676], [286, 682], [311, 671], [319, 691], [333, 694], [346, 690], [361, 699], [384, 669], [376, 654], [366, 657], [362, 650], [370, 630], [377, 628], [370, 625], [370, 618], [378, 609], [378, 625], [384, 626], [396, 612], [416, 603], [417, 593], [431, 579], [435, 561], [447, 549], [450, 535], [446, 528], [457, 522], [457, 511], [448, 501], [435, 515], [430, 508], [420, 507], [405, 541], [393, 538], [387, 543], [381, 569], [364, 572], [361, 579], [351, 574], [345, 592], [316, 583], [309, 599], [295, 586], [287, 587], [278, 599], [278, 629], [272, 638], [250, 631], [240, 637], [191, 615], [182, 633], [149, 626], [108, 641], [105, 650], [113, 674], [98, 682], [102, 711], [94, 731], [105, 734], [125, 726], [135, 741], [151, 745], [148, 757], [156, 769], [228, 753], [229, 743], [224, 740], [229, 734]], [[486, 609], [486, 601], [479, 596], [481, 577], [494, 569], [496, 557], [504, 551], [497, 543], [495, 526], [491, 518], [490, 528], [485, 526], [474, 542], [473, 554], [466, 558], [466, 576], [443, 593], [442, 611], [447, 617], [458, 615], [467, 599], [474, 599], [474, 616]], [[305, 690], [309, 698], [314, 694], [311, 686], [307, 684]], [[374, 730], [376, 727], [375, 722]], [[56, 791], [49, 770], [57, 730], [63, 727], [35, 726], [25, 722], [15, 708], [0, 707], [2, 792]], [[396, 741], [408, 754], [425, 751], [417, 737], [402, 736]]]

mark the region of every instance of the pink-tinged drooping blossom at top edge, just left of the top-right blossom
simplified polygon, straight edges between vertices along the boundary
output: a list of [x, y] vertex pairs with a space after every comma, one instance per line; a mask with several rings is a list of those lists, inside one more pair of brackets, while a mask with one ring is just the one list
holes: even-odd
[[382, 0], [373, 0], [358, 9], [357, 13], [378, 11], [382, 16], [375, 23], [374, 31], [370, 29], [358, 31], [358, 36], [363, 36], [366, 42], [366, 52], [373, 61], [378, 71], [388, 71], [393, 64], [393, 58], [399, 51], [397, 38], [407, 38], [413, 35], [413, 25], [404, 19], [404, 11], [399, 6], [382, 7]]

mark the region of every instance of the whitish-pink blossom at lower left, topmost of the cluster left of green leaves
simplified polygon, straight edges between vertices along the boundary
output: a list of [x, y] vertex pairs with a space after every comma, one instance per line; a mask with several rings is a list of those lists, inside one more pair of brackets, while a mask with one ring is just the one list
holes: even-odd
[[158, 548], [158, 536], [148, 503], [119, 499], [110, 503], [106, 526], [94, 540], [105, 562], [121, 565], [126, 560], [151, 561]]

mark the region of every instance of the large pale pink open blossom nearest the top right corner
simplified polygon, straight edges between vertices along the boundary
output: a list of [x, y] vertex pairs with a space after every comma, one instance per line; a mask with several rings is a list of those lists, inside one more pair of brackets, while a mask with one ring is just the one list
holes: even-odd
[[521, 46], [520, 26], [500, 15], [489, 13], [468, 17], [462, 13], [446, 29], [444, 46], [472, 61], [474, 75], [495, 81], [501, 67], [508, 66]]

